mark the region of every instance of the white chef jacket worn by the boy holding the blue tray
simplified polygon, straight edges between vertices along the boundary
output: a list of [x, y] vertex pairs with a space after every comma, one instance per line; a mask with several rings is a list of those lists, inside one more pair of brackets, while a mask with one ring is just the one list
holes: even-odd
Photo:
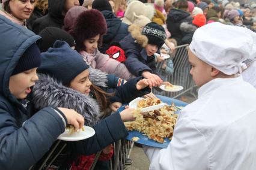
[[168, 148], [144, 147], [150, 169], [256, 169], [256, 89], [236, 78], [200, 87], [181, 110]]

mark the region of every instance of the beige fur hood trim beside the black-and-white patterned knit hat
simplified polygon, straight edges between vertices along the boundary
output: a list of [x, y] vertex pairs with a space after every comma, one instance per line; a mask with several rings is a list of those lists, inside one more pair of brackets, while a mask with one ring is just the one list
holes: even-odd
[[148, 44], [148, 38], [141, 34], [141, 28], [139, 26], [130, 25], [128, 31], [141, 47], [144, 48]]

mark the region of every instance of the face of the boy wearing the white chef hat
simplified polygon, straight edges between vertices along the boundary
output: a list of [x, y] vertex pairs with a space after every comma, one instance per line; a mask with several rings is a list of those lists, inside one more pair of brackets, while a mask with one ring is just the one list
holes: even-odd
[[195, 84], [201, 87], [213, 79], [211, 76], [212, 66], [198, 59], [198, 57], [195, 56], [195, 54], [192, 53], [190, 49], [188, 54], [189, 63], [192, 65], [189, 73], [192, 75]]

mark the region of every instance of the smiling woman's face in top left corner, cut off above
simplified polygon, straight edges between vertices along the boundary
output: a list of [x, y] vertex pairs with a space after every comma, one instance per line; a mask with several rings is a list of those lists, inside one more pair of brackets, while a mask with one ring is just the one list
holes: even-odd
[[11, 0], [9, 2], [11, 14], [17, 19], [29, 19], [34, 10], [35, 0]]

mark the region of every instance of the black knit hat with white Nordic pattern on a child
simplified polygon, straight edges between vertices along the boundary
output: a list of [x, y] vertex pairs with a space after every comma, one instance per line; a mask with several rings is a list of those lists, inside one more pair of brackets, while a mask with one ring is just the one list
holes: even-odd
[[148, 38], [148, 44], [157, 45], [159, 49], [165, 43], [165, 29], [157, 23], [151, 22], [145, 25], [142, 34]]

